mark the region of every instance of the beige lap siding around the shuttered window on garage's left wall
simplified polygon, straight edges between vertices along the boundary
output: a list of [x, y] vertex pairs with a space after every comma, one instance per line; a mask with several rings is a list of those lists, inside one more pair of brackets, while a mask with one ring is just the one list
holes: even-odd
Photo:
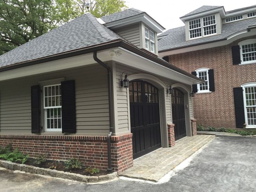
[[30, 88], [56, 78], [75, 80], [77, 133], [107, 134], [107, 75], [100, 65], [0, 82], [0, 133], [31, 133]]

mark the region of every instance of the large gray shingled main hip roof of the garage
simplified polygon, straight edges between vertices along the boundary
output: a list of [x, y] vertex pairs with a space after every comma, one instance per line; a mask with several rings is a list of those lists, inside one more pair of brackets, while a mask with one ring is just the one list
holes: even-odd
[[122, 39], [90, 13], [0, 56], [0, 67]]

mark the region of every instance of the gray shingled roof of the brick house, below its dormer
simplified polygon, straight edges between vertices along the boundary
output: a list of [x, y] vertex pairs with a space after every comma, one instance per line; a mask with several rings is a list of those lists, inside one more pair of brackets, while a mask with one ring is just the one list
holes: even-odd
[[227, 23], [222, 26], [222, 31], [220, 35], [214, 35], [207, 38], [195, 39], [191, 41], [186, 41], [185, 37], [185, 26], [177, 27], [175, 29], [170, 29], [165, 33], [169, 33], [168, 36], [162, 38], [158, 41], [158, 50], [170, 50], [179, 49], [182, 47], [193, 46], [203, 43], [210, 43], [212, 41], [224, 40], [230, 35], [245, 30], [248, 26], [256, 24], [256, 17], [251, 19], [246, 19], [238, 22]]

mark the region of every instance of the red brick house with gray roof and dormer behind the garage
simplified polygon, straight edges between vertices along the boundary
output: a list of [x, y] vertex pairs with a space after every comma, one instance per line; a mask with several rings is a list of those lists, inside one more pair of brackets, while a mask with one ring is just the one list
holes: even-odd
[[197, 123], [256, 128], [256, 6], [202, 6], [180, 19], [158, 36], [159, 56], [206, 81], [193, 85]]

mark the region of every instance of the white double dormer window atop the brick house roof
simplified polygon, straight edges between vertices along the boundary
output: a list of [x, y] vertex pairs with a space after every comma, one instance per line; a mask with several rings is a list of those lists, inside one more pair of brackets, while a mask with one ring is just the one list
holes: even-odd
[[[202, 24], [201, 24], [202, 23]], [[202, 35], [203, 31], [203, 35]], [[189, 21], [190, 39], [217, 34], [215, 15]]]

